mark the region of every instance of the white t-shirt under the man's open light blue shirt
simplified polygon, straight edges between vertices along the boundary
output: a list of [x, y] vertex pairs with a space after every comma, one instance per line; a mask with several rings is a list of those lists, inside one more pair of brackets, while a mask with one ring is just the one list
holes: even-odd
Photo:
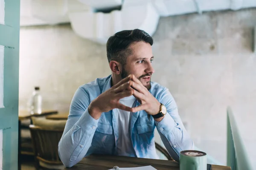
[[[135, 106], [135, 97], [129, 96], [120, 99], [119, 102], [128, 107]], [[118, 122], [118, 142], [116, 145], [117, 154], [119, 156], [131, 156], [134, 157], [134, 149], [131, 144], [130, 126], [131, 126], [131, 116], [133, 112], [123, 111], [117, 109], [117, 122]]]

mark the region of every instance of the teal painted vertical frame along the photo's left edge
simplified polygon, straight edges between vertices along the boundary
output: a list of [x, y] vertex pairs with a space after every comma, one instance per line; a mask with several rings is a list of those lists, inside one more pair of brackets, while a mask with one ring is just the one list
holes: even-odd
[[[2, 0], [3, 1], [3, 0]], [[20, 0], [4, 1], [4, 24], [0, 24], [0, 45], [4, 46], [3, 105], [0, 129], [3, 130], [3, 170], [17, 170]], [[3, 11], [0, 11], [3, 12]]]

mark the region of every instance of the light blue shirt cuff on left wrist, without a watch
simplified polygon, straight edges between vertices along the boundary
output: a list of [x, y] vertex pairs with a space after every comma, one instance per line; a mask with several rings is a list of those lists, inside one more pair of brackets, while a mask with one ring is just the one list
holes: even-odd
[[84, 111], [80, 119], [77, 121], [76, 125], [81, 128], [84, 133], [94, 133], [98, 127], [99, 119], [96, 120], [90, 116], [88, 108]]

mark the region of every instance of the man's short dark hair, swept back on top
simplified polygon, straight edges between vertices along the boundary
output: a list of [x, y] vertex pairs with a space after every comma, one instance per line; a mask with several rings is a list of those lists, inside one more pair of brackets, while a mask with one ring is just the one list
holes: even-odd
[[124, 30], [109, 37], [107, 42], [108, 62], [115, 60], [125, 65], [126, 59], [132, 54], [129, 48], [134, 42], [147, 42], [153, 44], [153, 39], [148, 33], [140, 29]]

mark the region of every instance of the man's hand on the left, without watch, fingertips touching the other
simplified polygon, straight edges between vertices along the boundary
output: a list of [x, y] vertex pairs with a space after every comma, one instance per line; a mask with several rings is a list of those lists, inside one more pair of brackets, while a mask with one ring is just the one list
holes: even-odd
[[119, 103], [119, 100], [134, 94], [134, 89], [128, 88], [131, 86], [131, 75], [122, 79], [116, 85], [100, 94], [94, 99], [89, 107], [88, 112], [94, 119], [99, 119], [103, 112], [108, 112], [114, 108], [122, 109], [124, 111], [131, 111], [131, 108]]

